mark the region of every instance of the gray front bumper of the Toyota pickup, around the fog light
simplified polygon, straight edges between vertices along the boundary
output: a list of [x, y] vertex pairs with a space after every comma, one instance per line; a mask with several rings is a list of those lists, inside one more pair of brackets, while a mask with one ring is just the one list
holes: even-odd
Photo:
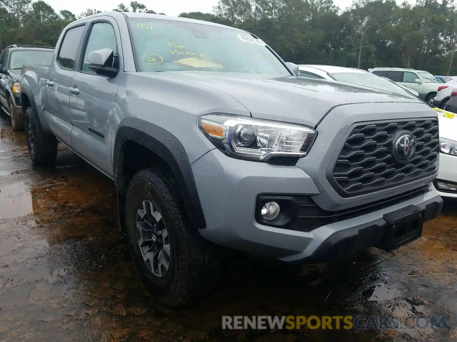
[[383, 242], [383, 215], [416, 205], [425, 220], [441, 211], [435, 189], [360, 216], [324, 224], [309, 232], [260, 224], [255, 218], [257, 196], [319, 195], [314, 181], [296, 166], [273, 166], [230, 158], [211, 150], [192, 164], [207, 227], [202, 237], [215, 244], [262, 254], [286, 262], [308, 263], [343, 257]]

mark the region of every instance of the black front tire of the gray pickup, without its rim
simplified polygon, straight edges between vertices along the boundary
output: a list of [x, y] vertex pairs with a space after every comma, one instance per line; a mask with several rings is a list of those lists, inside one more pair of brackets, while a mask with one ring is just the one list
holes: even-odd
[[[138, 244], [137, 211], [143, 201], [159, 209], [170, 236], [168, 272], [158, 277], [149, 269]], [[125, 221], [130, 253], [141, 279], [157, 301], [182, 306], [207, 295], [219, 275], [214, 247], [191, 226], [173, 177], [160, 168], [139, 171], [128, 187]]]

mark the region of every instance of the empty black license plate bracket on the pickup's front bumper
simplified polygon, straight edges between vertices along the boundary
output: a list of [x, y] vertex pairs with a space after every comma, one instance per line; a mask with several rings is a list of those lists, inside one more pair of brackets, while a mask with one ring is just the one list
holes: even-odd
[[381, 248], [389, 251], [421, 237], [424, 210], [410, 205], [385, 214], [384, 220], [387, 222], [387, 229]]

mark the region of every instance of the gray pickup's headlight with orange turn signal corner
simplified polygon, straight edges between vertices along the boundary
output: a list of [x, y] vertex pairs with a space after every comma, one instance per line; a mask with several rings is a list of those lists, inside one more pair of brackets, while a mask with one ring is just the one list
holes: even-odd
[[214, 114], [202, 116], [198, 126], [219, 150], [255, 161], [304, 157], [317, 135], [307, 126]]

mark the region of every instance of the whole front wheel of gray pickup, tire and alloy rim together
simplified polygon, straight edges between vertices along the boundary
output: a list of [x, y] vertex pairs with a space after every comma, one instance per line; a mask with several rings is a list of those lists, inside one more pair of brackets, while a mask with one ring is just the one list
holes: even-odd
[[218, 279], [213, 246], [191, 227], [175, 181], [165, 171], [139, 171], [125, 204], [128, 245], [144, 285], [167, 306], [209, 293]]

